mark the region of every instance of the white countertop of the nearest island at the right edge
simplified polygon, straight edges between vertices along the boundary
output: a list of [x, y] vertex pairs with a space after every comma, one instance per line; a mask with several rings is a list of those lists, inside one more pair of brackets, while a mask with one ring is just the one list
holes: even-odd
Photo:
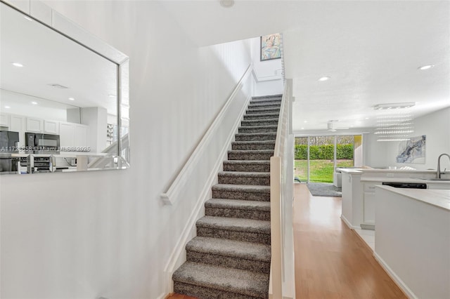
[[450, 211], [450, 190], [407, 189], [384, 185], [376, 187]]

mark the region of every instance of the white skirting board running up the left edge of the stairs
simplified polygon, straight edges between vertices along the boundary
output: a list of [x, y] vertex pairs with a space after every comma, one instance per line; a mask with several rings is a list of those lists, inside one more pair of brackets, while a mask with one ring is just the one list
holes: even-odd
[[[242, 116], [245, 113], [245, 109], [247, 109], [250, 99], [251, 97], [249, 96], [245, 100], [245, 104], [240, 110], [239, 115]], [[195, 237], [195, 222], [197, 222], [198, 219], [205, 215], [205, 211], [203, 210], [205, 201], [207, 201], [207, 199], [210, 199], [212, 185], [217, 183], [217, 173], [219, 173], [219, 171], [222, 169], [223, 162], [224, 160], [226, 160], [229, 151], [229, 146], [234, 140], [233, 138], [236, 134], [236, 131], [238, 130], [241, 119], [242, 117], [240, 117], [240, 119], [237, 119], [236, 124], [233, 125], [233, 128], [227, 136], [224, 147], [222, 148], [219, 157], [214, 164], [214, 168], [209, 175], [209, 179], [205, 183], [205, 187], [203, 187], [203, 190], [200, 193], [200, 197], [198, 197], [198, 201], [195, 203], [195, 207], [193, 208], [191, 215], [189, 215], [188, 223], [186, 224], [186, 227], [184, 227], [183, 232], [181, 232], [181, 236], [179, 237], [178, 241], [176, 241], [176, 246], [174, 246], [172, 253], [169, 255], [169, 261], [167, 262], [164, 270], [164, 284], [167, 294], [174, 291], [172, 274], [179, 266], [181, 266], [186, 261], [186, 254], [184, 254], [186, 250], [186, 244], [188, 243], [188, 241], [193, 239], [193, 237]]]

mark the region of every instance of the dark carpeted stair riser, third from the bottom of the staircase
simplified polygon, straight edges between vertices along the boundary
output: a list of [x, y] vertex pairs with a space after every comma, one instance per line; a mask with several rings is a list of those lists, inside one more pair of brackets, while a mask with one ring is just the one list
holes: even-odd
[[261, 234], [258, 232], [236, 232], [234, 230], [221, 230], [219, 228], [197, 227], [197, 236], [270, 245], [270, 234]]

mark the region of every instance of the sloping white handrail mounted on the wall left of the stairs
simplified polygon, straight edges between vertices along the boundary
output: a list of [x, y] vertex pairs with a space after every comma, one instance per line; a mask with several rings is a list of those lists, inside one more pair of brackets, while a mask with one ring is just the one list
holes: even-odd
[[201, 156], [201, 151], [203, 147], [205, 146], [207, 141], [210, 140], [211, 136], [214, 134], [214, 131], [216, 131], [216, 127], [219, 126], [221, 119], [224, 117], [226, 113], [226, 109], [229, 107], [229, 105], [231, 105], [231, 102], [233, 102], [233, 99], [236, 97], [240, 89], [243, 87], [243, 84], [245, 83], [245, 80], [248, 78], [248, 76], [251, 74], [252, 69], [253, 64], [248, 65], [248, 68], [245, 70], [245, 73], [240, 78], [238, 84], [234, 88], [228, 100], [226, 100], [225, 104], [221, 107], [220, 112], [217, 114], [214, 121], [207, 129], [200, 142], [198, 142], [198, 145], [195, 147], [195, 150], [192, 152], [191, 156], [188, 158], [183, 168], [181, 168], [181, 171], [179, 171], [174, 180], [172, 180], [166, 192], [160, 195], [164, 204], [172, 205], [174, 203], [176, 196], [179, 194], [181, 186], [184, 185], [184, 183], [188, 179], [190, 168], [194, 164], [193, 162]]

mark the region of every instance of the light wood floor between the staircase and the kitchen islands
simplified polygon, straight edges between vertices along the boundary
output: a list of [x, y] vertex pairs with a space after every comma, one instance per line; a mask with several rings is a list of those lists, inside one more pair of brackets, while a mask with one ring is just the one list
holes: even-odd
[[295, 184], [296, 299], [406, 298], [340, 213], [340, 197], [313, 197], [306, 185]]

